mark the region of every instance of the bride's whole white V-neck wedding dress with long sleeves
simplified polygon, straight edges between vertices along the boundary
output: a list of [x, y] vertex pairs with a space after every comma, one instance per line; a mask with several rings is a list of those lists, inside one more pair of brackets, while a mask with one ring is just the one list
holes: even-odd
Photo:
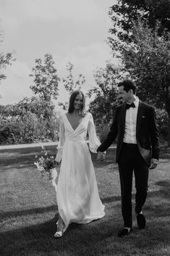
[[102, 218], [104, 205], [98, 194], [93, 162], [89, 148], [96, 152], [100, 141], [95, 133], [93, 116], [88, 113], [74, 130], [67, 115], [60, 118], [59, 146], [56, 160], [61, 160], [61, 169], [56, 189], [59, 214], [64, 221], [64, 231], [70, 223], [89, 223]]

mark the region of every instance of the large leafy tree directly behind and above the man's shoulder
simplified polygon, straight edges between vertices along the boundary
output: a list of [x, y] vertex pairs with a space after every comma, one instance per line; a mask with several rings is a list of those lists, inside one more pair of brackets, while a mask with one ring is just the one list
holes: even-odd
[[134, 22], [135, 44], [124, 45], [124, 69], [137, 81], [137, 94], [145, 102], [166, 110], [168, 145], [170, 146], [170, 33], [159, 36], [159, 25], [153, 30], [145, 22]]

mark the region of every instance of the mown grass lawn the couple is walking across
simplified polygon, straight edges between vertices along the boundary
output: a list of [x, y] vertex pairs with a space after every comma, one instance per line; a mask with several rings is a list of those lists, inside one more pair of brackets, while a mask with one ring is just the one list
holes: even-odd
[[[55, 146], [46, 149], [55, 154]], [[170, 149], [161, 149], [160, 165], [150, 170], [145, 230], [137, 228], [133, 214], [133, 231], [123, 239], [116, 237], [123, 222], [115, 149], [108, 150], [106, 162], [97, 162], [92, 155], [106, 216], [84, 226], [72, 224], [59, 239], [54, 238], [58, 219], [54, 187], [33, 165], [38, 152], [41, 148], [0, 150], [1, 256], [170, 255]], [[133, 202], [134, 198], [135, 189]]]

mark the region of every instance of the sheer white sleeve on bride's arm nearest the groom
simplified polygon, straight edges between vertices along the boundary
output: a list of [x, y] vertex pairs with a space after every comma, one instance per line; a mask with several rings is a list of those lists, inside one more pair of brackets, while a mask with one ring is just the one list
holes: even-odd
[[98, 146], [101, 145], [101, 142], [99, 141], [95, 132], [95, 124], [93, 121], [93, 116], [90, 113], [89, 115], [90, 115], [89, 123], [88, 123], [89, 148], [91, 152], [98, 153], [97, 149], [98, 149]]

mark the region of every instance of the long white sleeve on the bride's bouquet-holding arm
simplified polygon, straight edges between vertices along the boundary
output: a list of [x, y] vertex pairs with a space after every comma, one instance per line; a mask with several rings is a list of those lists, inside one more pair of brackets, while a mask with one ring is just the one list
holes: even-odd
[[57, 146], [58, 152], [56, 154], [56, 162], [60, 162], [62, 158], [63, 146], [65, 141], [65, 129], [63, 118], [59, 119], [59, 145]]

